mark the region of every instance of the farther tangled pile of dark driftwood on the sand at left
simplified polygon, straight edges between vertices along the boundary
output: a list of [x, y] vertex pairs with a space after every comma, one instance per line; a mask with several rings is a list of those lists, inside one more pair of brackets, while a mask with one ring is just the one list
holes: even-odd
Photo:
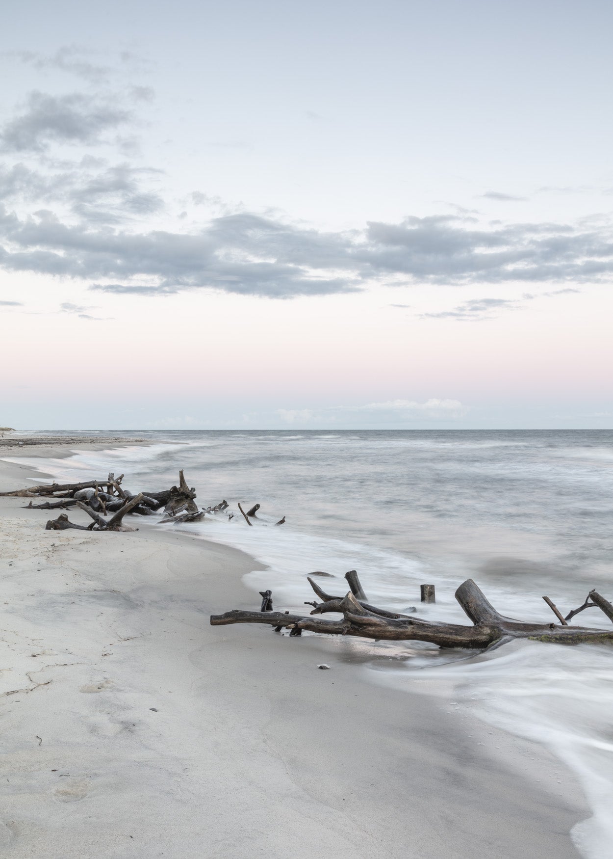
[[[127, 527], [122, 522], [124, 515], [128, 513], [151, 515], [155, 510], [163, 509], [170, 518], [186, 510], [184, 517], [177, 517], [179, 520], [197, 516], [200, 512], [194, 501], [196, 490], [187, 485], [182, 471], [179, 472], [179, 486], [171, 486], [170, 489], [157, 492], [139, 492], [137, 495], [124, 489], [123, 478], [123, 474], [118, 478], [109, 474], [106, 480], [87, 480], [76, 484], [41, 484], [12, 492], [0, 492], [0, 495], [44, 497], [46, 501], [40, 504], [30, 501], [27, 509], [65, 510], [76, 507], [92, 519], [88, 526], [76, 525], [63, 513], [58, 515], [57, 519], [50, 519], [46, 523], [47, 531], [64, 531], [67, 528], [76, 528], [79, 531], [134, 531], [134, 528]], [[105, 519], [109, 514], [112, 515]]]

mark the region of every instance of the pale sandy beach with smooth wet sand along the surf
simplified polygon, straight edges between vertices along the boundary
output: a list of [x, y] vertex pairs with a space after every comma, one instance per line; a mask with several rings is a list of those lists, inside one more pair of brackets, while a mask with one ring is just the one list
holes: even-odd
[[[31, 476], [0, 461], [0, 490]], [[589, 810], [540, 746], [367, 683], [355, 643], [209, 626], [258, 607], [251, 557], [24, 503], [0, 499], [7, 859], [580, 855]]]

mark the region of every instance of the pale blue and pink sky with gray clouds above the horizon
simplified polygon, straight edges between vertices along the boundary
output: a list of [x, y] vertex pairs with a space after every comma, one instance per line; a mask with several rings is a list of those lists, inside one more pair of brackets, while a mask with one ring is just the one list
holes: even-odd
[[613, 427], [613, 7], [21, 0], [0, 424]]

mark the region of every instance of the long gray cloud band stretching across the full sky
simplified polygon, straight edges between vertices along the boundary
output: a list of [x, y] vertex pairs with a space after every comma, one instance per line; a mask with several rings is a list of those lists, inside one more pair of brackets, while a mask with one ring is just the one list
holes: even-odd
[[[561, 283], [613, 273], [609, 236], [565, 224], [476, 230], [458, 219], [428, 217], [325, 233], [245, 212], [213, 218], [192, 233], [130, 232], [108, 223], [97, 227], [91, 211], [78, 205], [75, 211], [78, 222], [49, 209], [23, 219], [3, 210], [0, 235], [10, 250], [0, 249], [0, 265], [89, 279], [94, 289], [117, 294], [212, 287], [277, 298], [354, 291], [373, 280]], [[464, 317], [475, 312], [469, 306], [453, 311]]]

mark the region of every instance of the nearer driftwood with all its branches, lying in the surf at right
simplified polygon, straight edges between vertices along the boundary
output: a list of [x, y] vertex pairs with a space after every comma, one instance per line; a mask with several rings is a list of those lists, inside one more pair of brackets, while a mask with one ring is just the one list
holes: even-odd
[[[321, 574], [319, 574], [321, 575]], [[533, 624], [507, 618], [490, 605], [485, 595], [472, 579], [467, 579], [455, 593], [456, 600], [472, 625], [432, 623], [408, 614], [388, 612], [367, 602], [355, 570], [345, 578], [349, 582], [349, 594], [333, 596], [326, 594], [311, 576], [308, 581], [319, 596], [320, 602], [306, 602], [313, 606], [311, 616], [272, 610], [272, 594], [262, 591], [262, 608], [259, 612], [234, 610], [225, 614], [211, 615], [213, 626], [226, 624], [269, 624], [279, 632], [290, 630], [290, 636], [300, 636], [302, 630], [321, 632], [326, 635], [358, 636], [390, 641], [423, 641], [438, 644], [443, 648], [486, 649], [513, 641], [515, 638], [531, 638], [535, 641], [557, 644], [580, 644], [586, 642], [613, 642], [613, 631], [590, 629], [585, 626], [569, 626], [567, 621], [585, 608], [598, 607], [613, 621], [613, 606], [597, 591], [592, 590], [579, 609], [569, 612], [566, 618], [556, 617], [560, 624]], [[547, 600], [548, 605], [550, 600]], [[336, 612], [342, 619], [325, 620], [313, 615]]]

